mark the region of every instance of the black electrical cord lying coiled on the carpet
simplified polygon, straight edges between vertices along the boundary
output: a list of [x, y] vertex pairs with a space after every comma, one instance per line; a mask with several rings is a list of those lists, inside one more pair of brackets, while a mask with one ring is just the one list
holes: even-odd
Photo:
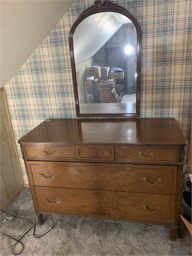
[[[19, 239], [13, 238], [13, 237], [11, 237], [11, 235], [8, 235], [8, 234], [6, 234], [6, 233], [0, 232], [0, 234], [6, 235], [7, 237], [9, 237], [9, 238], [11, 238], [11, 239], [13, 239], [13, 240], [16, 241], [16, 243], [14, 243], [13, 246], [11, 247], [11, 252], [12, 252], [13, 255], [19, 255], [19, 254], [21, 254], [21, 253], [23, 252], [24, 245], [23, 245], [23, 243], [21, 242], [21, 239], [22, 239], [32, 228], [34, 228], [34, 230], [33, 230], [33, 237], [35, 237], [35, 238], [41, 238], [41, 237], [43, 237], [44, 235], [46, 235], [47, 233], [49, 233], [49, 232], [54, 228], [54, 221], [53, 221], [52, 219], [45, 219], [44, 221], [46, 221], [46, 220], [51, 220], [53, 225], [52, 225], [51, 229], [48, 230], [45, 234], [42, 234], [42, 235], [40, 235], [39, 237], [37, 237], [37, 236], [35, 235], [35, 231], [36, 231], [36, 225], [39, 224], [39, 222], [36, 223], [36, 224], [34, 224], [34, 223], [32, 223], [31, 220], [28, 220], [28, 219], [25, 219], [25, 218], [22, 218], [22, 217], [18, 217], [18, 216], [16, 216], [16, 215], [13, 215], [13, 214], [11, 214], [11, 213], [8, 213], [7, 211], [4, 211], [4, 210], [2, 210], [2, 209], [0, 209], [0, 210], [1, 210], [3, 213], [7, 213], [7, 214], [13, 216], [14, 218], [27, 220], [27, 221], [29, 221], [29, 222], [32, 224], [32, 227], [29, 228], [29, 229], [27, 230], [27, 232], [24, 233], [24, 234], [22, 235], [22, 237], [19, 238]], [[13, 251], [14, 251], [14, 246], [15, 246], [17, 243], [21, 244], [22, 249], [21, 249], [21, 251], [20, 251], [19, 253], [14, 253], [14, 252], [13, 252]]]

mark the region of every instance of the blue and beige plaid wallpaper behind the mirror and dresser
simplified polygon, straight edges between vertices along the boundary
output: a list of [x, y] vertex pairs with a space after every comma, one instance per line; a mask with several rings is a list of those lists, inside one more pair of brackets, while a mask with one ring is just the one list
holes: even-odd
[[[127, 8], [142, 30], [141, 117], [175, 117], [189, 140], [191, 0], [113, 2]], [[16, 142], [45, 119], [76, 117], [68, 33], [79, 14], [92, 4], [77, 0], [7, 84]], [[18, 152], [27, 184], [19, 145]]]

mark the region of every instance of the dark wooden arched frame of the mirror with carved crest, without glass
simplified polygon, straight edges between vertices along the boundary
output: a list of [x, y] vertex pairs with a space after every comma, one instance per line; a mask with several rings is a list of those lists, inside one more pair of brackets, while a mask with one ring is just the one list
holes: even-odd
[[[77, 91], [77, 79], [76, 79], [76, 67], [75, 67], [75, 57], [73, 51], [73, 33], [75, 32], [78, 24], [83, 21], [83, 19], [91, 16], [95, 13], [100, 12], [117, 12], [121, 13], [127, 18], [129, 18], [135, 25], [137, 32], [137, 82], [136, 82], [136, 113], [122, 113], [122, 114], [81, 114], [80, 113], [80, 104], [78, 101], [78, 91]], [[87, 8], [83, 11], [80, 16], [73, 23], [69, 37], [69, 46], [70, 46], [70, 59], [71, 59], [71, 71], [72, 71], [72, 80], [73, 80], [73, 91], [75, 95], [75, 106], [76, 106], [76, 115], [77, 117], [139, 117], [140, 116], [140, 83], [141, 83], [141, 28], [139, 22], [132, 14], [127, 11], [124, 7], [119, 6], [118, 4], [110, 2], [110, 0], [105, 1], [95, 1], [94, 5]]]

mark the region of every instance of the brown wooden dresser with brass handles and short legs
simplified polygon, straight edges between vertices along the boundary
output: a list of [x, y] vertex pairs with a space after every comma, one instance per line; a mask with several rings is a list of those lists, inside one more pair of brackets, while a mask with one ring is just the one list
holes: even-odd
[[175, 119], [52, 119], [18, 141], [38, 220], [70, 214], [169, 225], [186, 140]]

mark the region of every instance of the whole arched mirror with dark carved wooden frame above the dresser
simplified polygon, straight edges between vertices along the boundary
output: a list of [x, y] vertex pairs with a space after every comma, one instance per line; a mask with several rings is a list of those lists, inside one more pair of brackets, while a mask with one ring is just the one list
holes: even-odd
[[132, 14], [95, 1], [69, 42], [77, 116], [139, 116], [141, 29]]

